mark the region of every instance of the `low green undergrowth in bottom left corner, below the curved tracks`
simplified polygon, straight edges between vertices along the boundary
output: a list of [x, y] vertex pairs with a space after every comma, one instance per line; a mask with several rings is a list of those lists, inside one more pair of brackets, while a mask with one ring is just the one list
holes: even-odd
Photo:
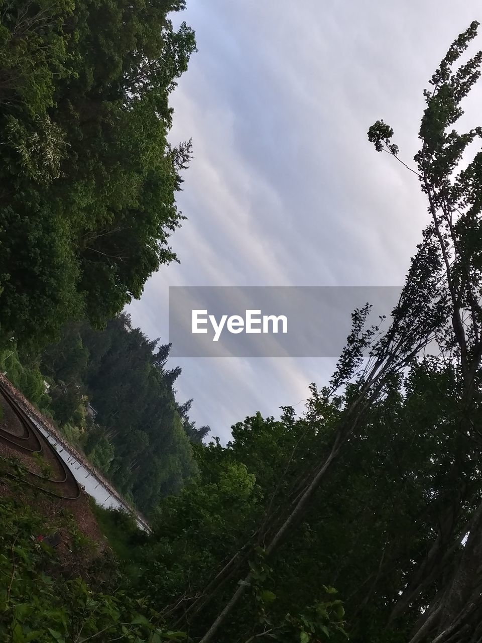
[[[78, 555], [87, 554], [85, 537], [71, 519], [62, 519], [62, 526], [69, 529]], [[57, 527], [50, 525], [50, 530]], [[126, 586], [118, 586], [114, 595], [80, 576], [64, 575], [57, 552], [37, 539], [48, 533], [44, 518], [29, 505], [1, 500], [2, 642], [67, 643], [122, 638], [137, 643], [161, 643], [186, 638], [182, 632], [165, 628], [159, 613], [141, 597], [133, 596]], [[102, 564], [96, 562], [97, 567]]]

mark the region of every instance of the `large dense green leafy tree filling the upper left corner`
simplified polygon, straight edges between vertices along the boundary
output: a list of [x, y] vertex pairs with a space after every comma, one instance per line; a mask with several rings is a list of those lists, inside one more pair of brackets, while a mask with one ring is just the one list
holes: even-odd
[[168, 97], [195, 51], [183, 0], [0, 2], [0, 331], [102, 324], [175, 254]]

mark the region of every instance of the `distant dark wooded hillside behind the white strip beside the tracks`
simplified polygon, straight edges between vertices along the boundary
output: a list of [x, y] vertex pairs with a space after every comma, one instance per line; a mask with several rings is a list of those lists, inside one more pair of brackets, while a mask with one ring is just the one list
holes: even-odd
[[167, 367], [170, 345], [157, 343], [121, 314], [103, 331], [67, 325], [35, 364], [22, 364], [13, 343], [0, 352], [13, 385], [147, 514], [195, 473], [192, 443], [209, 431], [190, 420], [192, 400], [177, 403], [181, 369]]

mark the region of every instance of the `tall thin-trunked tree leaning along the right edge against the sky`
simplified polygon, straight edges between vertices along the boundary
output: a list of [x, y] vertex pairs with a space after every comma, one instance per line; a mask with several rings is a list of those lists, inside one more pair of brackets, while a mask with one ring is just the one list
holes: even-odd
[[[427, 490], [425, 503], [435, 520], [430, 532], [431, 542], [427, 543], [425, 555], [418, 557], [414, 568], [400, 577], [398, 594], [396, 592], [392, 599], [397, 604], [394, 606], [395, 618], [407, 613], [416, 600], [424, 601], [420, 607], [431, 603], [421, 617], [418, 613], [420, 618], [415, 624], [412, 643], [479, 639], [481, 619], [476, 600], [479, 584], [474, 560], [479, 551], [478, 526], [482, 512], [477, 505], [480, 488], [474, 485], [477, 471], [473, 464], [472, 441], [478, 440], [475, 427], [482, 354], [482, 315], [478, 303], [482, 294], [478, 218], [482, 206], [479, 180], [482, 154], [476, 154], [467, 170], [461, 170], [455, 176], [452, 174], [467, 146], [481, 135], [482, 130], [475, 128], [458, 134], [449, 129], [461, 115], [461, 99], [479, 77], [482, 53], [452, 71], [453, 64], [476, 35], [477, 26], [473, 23], [452, 44], [431, 79], [433, 91], [425, 92], [427, 109], [420, 129], [422, 148], [415, 156], [417, 170], [414, 172], [427, 195], [430, 222], [411, 262], [388, 330], [380, 335], [379, 327], [364, 327], [368, 307], [353, 314], [353, 332], [330, 386], [321, 392], [313, 389], [308, 405], [306, 420], [313, 426], [319, 424], [319, 435], [323, 436], [316, 449], [317, 458], [314, 462], [307, 458], [307, 466], [305, 463], [301, 466], [287, 498], [281, 497], [276, 505], [271, 505], [274, 509], [269, 526], [263, 521], [256, 530], [256, 538], [260, 538], [260, 532], [262, 534], [265, 556], [278, 560], [280, 550], [283, 552], [290, 547], [294, 534], [302, 528], [300, 525], [307, 524], [310, 507], [323, 493], [328, 473], [334, 475], [331, 472], [335, 463], [339, 467], [349, 445], [360, 443], [370, 426], [371, 413], [388, 399], [394, 378], [406, 372], [414, 361], [416, 363], [426, 347], [438, 346], [438, 359], [448, 365], [446, 375], [452, 373], [454, 376], [451, 388], [454, 408], [450, 418], [454, 455], [449, 458], [448, 465], [445, 463], [445, 476], [456, 484], [452, 484], [445, 494], [441, 493], [435, 503], [430, 502], [431, 494]], [[398, 147], [391, 143], [392, 135], [391, 128], [381, 121], [369, 131], [369, 139], [378, 151], [385, 150], [398, 159]], [[364, 353], [368, 359], [363, 358]], [[341, 392], [341, 404], [337, 402], [330, 409], [330, 400], [336, 400]], [[278, 485], [275, 493], [278, 493]], [[461, 554], [461, 540], [467, 533], [463, 523], [467, 519], [469, 538]], [[252, 539], [251, 547], [253, 545]], [[247, 568], [247, 561], [244, 559], [240, 565], [240, 559], [238, 552], [229, 561], [229, 573], [234, 569], [234, 573], [239, 574]], [[459, 560], [460, 563], [456, 563]], [[380, 574], [382, 563], [383, 559]], [[451, 572], [454, 564], [458, 571]], [[223, 581], [222, 577], [208, 585], [204, 600], [210, 600]], [[253, 582], [251, 567], [235, 584], [231, 597], [222, 601], [223, 606], [206, 629], [201, 643], [214, 638], [219, 640], [223, 628], [229, 628], [228, 622], [236, 619], [235, 608]], [[377, 574], [373, 583], [372, 593], [379, 583]], [[403, 595], [404, 590], [408, 597]], [[402, 599], [397, 598], [400, 593]], [[391, 622], [389, 617], [389, 624]]]

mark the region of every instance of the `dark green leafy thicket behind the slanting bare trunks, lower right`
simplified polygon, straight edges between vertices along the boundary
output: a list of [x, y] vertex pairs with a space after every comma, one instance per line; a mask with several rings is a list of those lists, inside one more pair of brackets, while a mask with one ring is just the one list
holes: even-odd
[[[292, 489], [296, 493], [323, 457], [332, 426], [349, 403], [348, 395], [332, 404], [314, 390], [300, 418], [289, 408], [281, 421], [257, 414], [233, 427], [227, 447], [213, 442], [195, 448], [199, 476], [179, 496], [161, 502], [143, 548], [138, 582], [150, 601], [168, 604], [169, 613], [176, 612], [177, 601], [183, 610], [201, 606], [188, 613], [190, 633], [201, 636], [249, 561], [251, 599], [231, 615], [217, 635], [220, 643], [245, 643], [264, 631], [267, 640], [318, 641], [328, 638], [325, 630], [330, 640], [345, 640], [345, 630], [357, 643], [406, 640], [436, 586], [417, 595], [396, 625], [387, 623], [404, 579], [424, 564], [459, 484], [452, 455], [467, 449], [456, 431], [450, 367], [426, 358], [406, 377], [393, 377], [312, 500], [296, 538], [269, 564], [256, 548], [276, 529], [275, 509], [290, 502]], [[465, 475], [475, 485], [471, 493], [480, 489], [477, 463], [474, 456], [465, 462]], [[473, 507], [472, 499], [453, 525], [456, 549]], [[222, 589], [208, 593], [206, 604], [195, 598], [228, 564], [233, 567]], [[331, 595], [331, 584], [339, 595]]]

